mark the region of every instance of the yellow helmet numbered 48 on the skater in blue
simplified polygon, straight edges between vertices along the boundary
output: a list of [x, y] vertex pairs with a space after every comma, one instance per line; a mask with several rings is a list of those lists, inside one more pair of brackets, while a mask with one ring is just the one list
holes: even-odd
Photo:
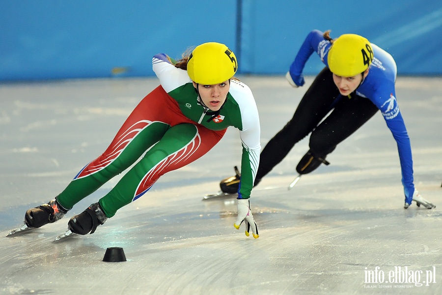
[[373, 56], [367, 39], [356, 34], [344, 34], [333, 41], [327, 61], [333, 74], [352, 77], [365, 71]]

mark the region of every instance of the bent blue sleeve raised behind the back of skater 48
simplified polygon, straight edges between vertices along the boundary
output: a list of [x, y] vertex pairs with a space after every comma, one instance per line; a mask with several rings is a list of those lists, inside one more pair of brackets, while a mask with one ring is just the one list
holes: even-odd
[[[327, 53], [331, 46], [330, 41], [324, 39], [324, 33], [320, 30], [312, 30], [301, 45], [295, 60], [290, 65], [290, 76], [298, 86], [304, 85], [303, 70], [305, 63], [313, 52], [320, 56], [321, 60], [327, 65]], [[325, 60], [325, 61], [324, 61]]]

